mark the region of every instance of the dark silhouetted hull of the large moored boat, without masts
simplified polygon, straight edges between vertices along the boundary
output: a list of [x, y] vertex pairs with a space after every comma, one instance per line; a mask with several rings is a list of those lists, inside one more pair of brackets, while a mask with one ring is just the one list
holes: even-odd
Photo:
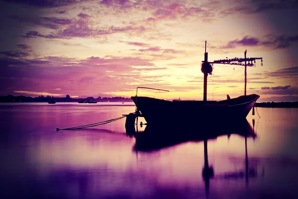
[[132, 97], [138, 110], [149, 124], [185, 122], [213, 123], [246, 118], [260, 96], [252, 94], [223, 101], [160, 100]]

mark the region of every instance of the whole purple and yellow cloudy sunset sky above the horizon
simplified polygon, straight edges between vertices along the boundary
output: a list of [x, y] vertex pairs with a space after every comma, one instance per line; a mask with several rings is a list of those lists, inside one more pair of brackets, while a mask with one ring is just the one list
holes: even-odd
[[[203, 98], [209, 61], [263, 57], [248, 94], [298, 100], [298, 0], [1, 0], [0, 96]], [[215, 48], [216, 47], [216, 48]], [[214, 65], [208, 99], [244, 93], [241, 66]], [[142, 94], [154, 96], [155, 93]], [[141, 95], [142, 95], [141, 94]]]

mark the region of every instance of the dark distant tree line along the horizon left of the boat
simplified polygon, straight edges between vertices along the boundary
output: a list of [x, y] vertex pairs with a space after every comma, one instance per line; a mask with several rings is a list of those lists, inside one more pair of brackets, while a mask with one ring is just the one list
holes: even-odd
[[78, 102], [78, 101], [96, 101], [96, 102], [132, 102], [130, 98], [123, 97], [88, 97], [88, 98], [71, 98], [70, 95], [66, 95], [65, 98], [51, 97], [51, 96], [38, 96], [38, 97], [25, 97], [25, 96], [0, 96], [0, 102], [48, 102], [50, 100], [56, 100], [57, 102]]

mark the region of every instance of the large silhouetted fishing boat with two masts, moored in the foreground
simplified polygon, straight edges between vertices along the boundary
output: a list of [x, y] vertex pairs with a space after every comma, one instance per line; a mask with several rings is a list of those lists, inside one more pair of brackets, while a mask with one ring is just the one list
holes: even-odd
[[[204, 96], [203, 101], [199, 100], [160, 100], [149, 97], [139, 97], [138, 89], [154, 89], [147, 87], [138, 87], [137, 95], [131, 97], [136, 104], [137, 116], [143, 116], [148, 124], [185, 124], [185, 123], [205, 123], [214, 125], [214, 121], [246, 118], [249, 111], [253, 108], [255, 102], [260, 98], [256, 94], [246, 95], [246, 67], [253, 66], [252, 61], [262, 58], [234, 58], [227, 60], [216, 60], [208, 62], [208, 53], [206, 52], [205, 42], [205, 60], [202, 61], [201, 71], [204, 73]], [[249, 61], [251, 63], [249, 63]], [[244, 64], [242, 64], [244, 62]], [[248, 64], [247, 64], [248, 62]], [[263, 60], [262, 60], [263, 62]], [[207, 76], [212, 75], [213, 64], [230, 64], [245, 66], [245, 87], [244, 95], [231, 99], [227, 95], [227, 100], [212, 101], [207, 100]], [[180, 98], [179, 98], [180, 99]]]

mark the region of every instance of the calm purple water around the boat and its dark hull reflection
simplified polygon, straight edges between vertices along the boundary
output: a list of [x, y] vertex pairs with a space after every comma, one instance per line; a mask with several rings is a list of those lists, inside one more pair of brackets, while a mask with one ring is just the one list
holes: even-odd
[[208, 140], [208, 186], [203, 141], [137, 151], [125, 119], [56, 131], [134, 112], [128, 104], [0, 104], [0, 198], [298, 198], [298, 109], [258, 108], [247, 117], [255, 138]]

